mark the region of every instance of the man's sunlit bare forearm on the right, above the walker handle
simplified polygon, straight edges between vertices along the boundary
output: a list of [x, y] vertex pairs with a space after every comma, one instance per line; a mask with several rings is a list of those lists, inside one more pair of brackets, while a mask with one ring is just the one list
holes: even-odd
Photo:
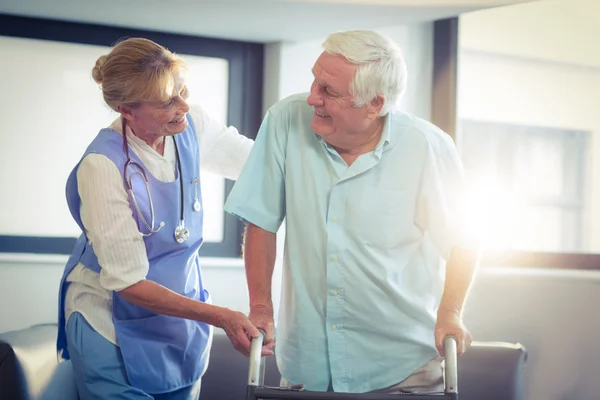
[[462, 316], [463, 306], [479, 262], [479, 252], [453, 249], [446, 265], [446, 283], [438, 315]]

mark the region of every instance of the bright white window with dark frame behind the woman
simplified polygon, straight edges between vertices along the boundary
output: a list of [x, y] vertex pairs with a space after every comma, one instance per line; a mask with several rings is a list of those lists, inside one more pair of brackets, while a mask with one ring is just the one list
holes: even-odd
[[[85, 147], [116, 118], [91, 78], [98, 56], [120, 38], [141, 36], [181, 55], [190, 67], [190, 101], [253, 137], [262, 104], [262, 45], [87, 24], [0, 16], [0, 65], [9, 87], [0, 105], [3, 207], [0, 252], [70, 254], [79, 228], [64, 198]], [[43, 39], [42, 39], [43, 38]], [[60, 155], [57, 157], [57, 155]], [[203, 173], [203, 256], [240, 255], [241, 224], [223, 212], [232, 182]], [[22, 216], [26, 215], [26, 218]]]

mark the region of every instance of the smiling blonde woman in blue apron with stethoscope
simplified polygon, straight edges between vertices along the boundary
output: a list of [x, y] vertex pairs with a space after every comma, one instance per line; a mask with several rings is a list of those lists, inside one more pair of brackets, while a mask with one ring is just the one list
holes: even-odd
[[188, 105], [186, 72], [140, 38], [92, 70], [120, 117], [66, 188], [82, 235], [61, 282], [57, 347], [84, 400], [197, 399], [212, 326], [241, 351], [258, 335], [244, 314], [210, 304], [198, 260], [200, 168], [236, 179], [253, 142]]

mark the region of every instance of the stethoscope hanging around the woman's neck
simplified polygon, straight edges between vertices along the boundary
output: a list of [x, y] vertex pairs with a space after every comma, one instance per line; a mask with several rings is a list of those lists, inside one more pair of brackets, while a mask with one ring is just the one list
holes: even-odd
[[[142, 233], [142, 236], [150, 236], [153, 233], [156, 233], [158, 231], [160, 231], [164, 226], [165, 223], [164, 221], [161, 221], [158, 224], [158, 227], [155, 228], [154, 227], [154, 203], [152, 202], [152, 196], [150, 195], [150, 184], [148, 183], [148, 177], [146, 176], [146, 172], [144, 170], [144, 168], [142, 168], [141, 165], [139, 165], [137, 162], [132, 161], [131, 158], [129, 157], [129, 145], [127, 143], [127, 133], [125, 131], [125, 119], [122, 118], [122, 127], [123, 127], [123, 151], [125, 152], [125, 155], [127, 156], [127, 161], [125, 162], [125, 168], [123, 170], [123, 178], [124, 178], [124, 182], [125, 182], [125, 189], [127, 190], [127, 193], [129, 193], [129, 196], [131, 196], [131, 199], [133, 200], [133, 205], [140, 217], [140, 220], [142, 221], [142, 223], [146, 226], [146, 229], [148, 229], [148, 233]], [[175, 137], [173, 136], [173, 144], [175, 145], [175, 157], [177, 160], [177, 171], [179, 172], [179, 194], [180, 194], [180, 203], [179, 203], [179, 224], [175, 227], [175, 240], [177, 241], [177, 243], [183, 243], [185, 242], [189, 237], [190, 237], [190, 231], [188, 228], [186, 228], [185, 226], [185, 210], [184, 210], [184, 206], [183, 206], [183, 175], [181, 173], [181, 160], [179, 158], [179, 148], [177, 147], [177, 141], [175, 140]], [[137, 168], [137, 172], [132, 173], [131, 175], [127, 176], [127, 168], [129, 166], [134, 166]], [[140, 174], [142, 176], [142, 178], [144, 179], [144, 185], [146, 186], [146, 193], [148, 194], [148, 201], [150, 203], [150, 223], [148, 223], [148, 221], [146, 220], [146, 218], [144, 217], [144, 215], [142, 214], [142, 211], [140, 210], [140, 207], [138, 205], [137, 200], [135, 199], [135, 194], [133, 193], [133, 185], [131, 184], [131, 177], [135, 174]], [[198, 182], [194, 182], [195, 184]], [[200, 211], [201, 209], [201, 205], [200, 205], [200, 201], [198, 199], [198, 191], [196, 189], [196, 196], [194, 199], [194, 210], [195, 211]]]

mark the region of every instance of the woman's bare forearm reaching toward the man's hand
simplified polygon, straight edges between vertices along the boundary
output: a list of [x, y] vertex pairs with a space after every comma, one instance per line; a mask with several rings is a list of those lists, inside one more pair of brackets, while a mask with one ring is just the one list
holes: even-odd
[[186, 318], [221, 326], [222, 307], [182, 296], [150, 280], [143, 280], [119, 292], [126, 301], [157, 314]]

